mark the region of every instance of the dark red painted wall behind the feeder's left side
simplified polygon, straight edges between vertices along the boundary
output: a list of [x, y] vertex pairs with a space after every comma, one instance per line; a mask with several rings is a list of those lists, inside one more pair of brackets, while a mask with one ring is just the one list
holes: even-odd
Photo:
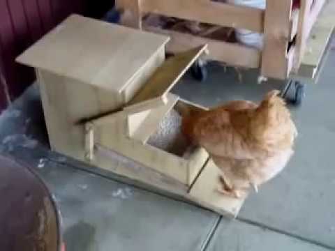
[[0, 0], [0, 111], [34, 81], [15, 58], [70, 13], [100, 17], [113, 1]]

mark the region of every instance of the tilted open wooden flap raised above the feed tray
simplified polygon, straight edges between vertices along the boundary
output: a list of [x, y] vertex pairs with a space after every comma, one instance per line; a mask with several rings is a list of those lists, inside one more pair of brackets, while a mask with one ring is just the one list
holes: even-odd
[[130, 105], [152, 98], [158, 98], [168, 93], [194, 61], [204, 53], [206, 47], [207, 45], [202, 45], [165, 60], [162, 66], [160, 66], [154, 75], [149, 78], [147, 83], [144, 84], [143, 89], [131, 100]]

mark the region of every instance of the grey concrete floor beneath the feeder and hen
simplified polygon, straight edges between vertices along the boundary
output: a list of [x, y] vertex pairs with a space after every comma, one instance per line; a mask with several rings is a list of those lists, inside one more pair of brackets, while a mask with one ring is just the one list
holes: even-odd
[[[29, 89], [0, 116], [0, 151], [27, 162], [59, 205], [69, 251], [335, 250], [335, 51], [317, 85], [292, 114], [296, 153], [285, 171], [251, 195], [236, 220], [151, 192], [49, 150], [38, 91]], [[253, 71], [209, 66], [207, 82], [186, 76], [173, 90], [202, 105], [259, 100], [280, 83], [257, 85]], [[94, 174], [98, 172], [98, 174]]]

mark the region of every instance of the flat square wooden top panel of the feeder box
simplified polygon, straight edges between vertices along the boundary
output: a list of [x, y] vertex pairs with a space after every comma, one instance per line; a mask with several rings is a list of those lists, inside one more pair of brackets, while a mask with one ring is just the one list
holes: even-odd
[[168, 40], [167, 36], [71, 15], [17, 61], [121, 92]]

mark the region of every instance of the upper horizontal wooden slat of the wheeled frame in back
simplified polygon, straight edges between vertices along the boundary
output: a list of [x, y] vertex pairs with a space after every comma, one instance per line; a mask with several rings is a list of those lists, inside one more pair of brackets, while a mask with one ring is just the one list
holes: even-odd
[[263, 32], [264, 10], [203, 0], [142, 0], [143, 12]]

